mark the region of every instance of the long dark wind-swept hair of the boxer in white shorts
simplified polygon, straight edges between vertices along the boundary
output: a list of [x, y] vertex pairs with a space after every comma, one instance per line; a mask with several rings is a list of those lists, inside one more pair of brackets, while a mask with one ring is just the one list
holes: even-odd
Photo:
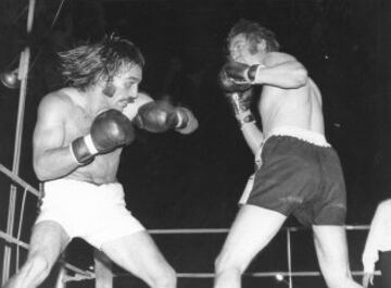
[[141, 51], [129, 40], [115, 35], [60, 52], [60, 70], [67, 86], [80, 90], [112, 78], [131, 65], [144, 66]]

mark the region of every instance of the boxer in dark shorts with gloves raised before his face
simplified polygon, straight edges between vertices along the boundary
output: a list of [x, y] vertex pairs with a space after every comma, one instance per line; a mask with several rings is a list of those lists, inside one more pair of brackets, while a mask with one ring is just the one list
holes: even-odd
[[[252, 259], [291, 214], [312, 226], [327, 286], [361, 287], [349, 267], [345, 187], [339, 158], [325, 138], [319, 89], [295, 58], [278, 52], [273, 32], [257, 23], [239, 21], [227, 40], [229, 59], [219, 82], [255, 154], [256, 171], [216, 259], [214, 287], [241, 287]], [[263, 130], [250, 109], [254, 85], [262, 85]]]

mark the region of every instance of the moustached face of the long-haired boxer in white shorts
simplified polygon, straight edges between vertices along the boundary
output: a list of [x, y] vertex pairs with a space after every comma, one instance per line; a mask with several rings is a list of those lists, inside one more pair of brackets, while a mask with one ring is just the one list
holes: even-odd
[[124, 68], [122, 73], [114, 76], [112, 85], [115, 87], [114, 95], [108, 97], [110, 105], [117, 110], [124, 108], [136, 100], [138, 86], [142, 79], [142, 70], [139, 65], [131, 65]]

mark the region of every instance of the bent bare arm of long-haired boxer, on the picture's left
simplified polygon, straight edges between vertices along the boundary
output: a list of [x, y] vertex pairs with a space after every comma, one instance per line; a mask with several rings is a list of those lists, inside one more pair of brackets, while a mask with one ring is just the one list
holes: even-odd
[[78, 166], [64, 143], [66, 107], [66, 101], [55, 95], [46, 96], [39, 104], [33, 136], [33, 164], [40, 180], [62, 177]]

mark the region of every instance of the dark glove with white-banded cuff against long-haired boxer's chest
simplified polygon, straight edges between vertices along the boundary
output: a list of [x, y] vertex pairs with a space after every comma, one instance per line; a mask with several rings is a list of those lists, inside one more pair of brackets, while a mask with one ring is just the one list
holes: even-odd
[[96, 154], [111, 152], [129, 145], [134, 139], [131, 122], [122, 112], [111, 109], [93, 120], [89, 135], [71, 143], [71, 152], [79, 164], [87, 164]]

